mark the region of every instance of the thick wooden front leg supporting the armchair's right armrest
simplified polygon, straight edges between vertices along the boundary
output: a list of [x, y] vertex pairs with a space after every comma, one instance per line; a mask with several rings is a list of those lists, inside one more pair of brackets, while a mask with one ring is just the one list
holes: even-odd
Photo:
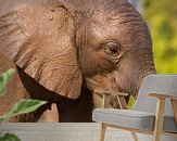
[[164, 111], [165, 111], [165, 99], [157, 99], [153, 141], [160, 141], [163, 129]]

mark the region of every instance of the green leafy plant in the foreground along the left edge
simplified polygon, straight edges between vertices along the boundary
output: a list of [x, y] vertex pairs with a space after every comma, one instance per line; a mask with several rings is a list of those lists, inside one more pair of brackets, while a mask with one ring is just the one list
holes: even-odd
[[[12, 78], [14, 72], [15, 72], [14, 69], [9, 69], [0, 75], [0, 97], [4, 95], [7, 85]], [[21, 100], [13, 106], [13, 108], [10, 112], [7, 112], [2, 116], [0, 116], [0, 123], [5, 121], [7, 119], [14, 115], [30, 113], [46, 103], [47, 103], [46, 101], [39, 100]], [[0, 141], [21, 141], [21, 140], [15, 134], [5, 133], [3, 137], [0, 137]]]

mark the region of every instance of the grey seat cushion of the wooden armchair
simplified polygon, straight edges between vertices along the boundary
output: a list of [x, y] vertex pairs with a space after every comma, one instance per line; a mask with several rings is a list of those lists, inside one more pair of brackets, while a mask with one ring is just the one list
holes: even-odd
[[[140, 130], [153, 130], [155, 114], [140, 111], [97, 108], [93, 111], [94, 121], [136, 128]], [[172, 116], [165, 116], [164, 131], [177, 132], [177, 125]]]

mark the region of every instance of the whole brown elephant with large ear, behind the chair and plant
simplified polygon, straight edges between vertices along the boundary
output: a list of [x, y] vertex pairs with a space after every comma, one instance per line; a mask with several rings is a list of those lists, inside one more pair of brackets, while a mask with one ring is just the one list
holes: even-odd
[[11, 121], [91, 121], [94, 89], [137, 94], [155, 73], [147, 24], [127, 0], [0, 0], [0, 70], [16, 67], [0, 114], [30, 98], [48, 104]]

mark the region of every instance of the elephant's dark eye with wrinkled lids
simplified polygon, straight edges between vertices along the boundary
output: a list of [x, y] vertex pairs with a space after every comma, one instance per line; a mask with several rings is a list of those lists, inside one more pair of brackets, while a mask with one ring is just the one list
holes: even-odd
[[110, 55], [118, 55], [121, 53], [121, 46], [117, 42], [108, 42], [104, 46], [104, 52]]

